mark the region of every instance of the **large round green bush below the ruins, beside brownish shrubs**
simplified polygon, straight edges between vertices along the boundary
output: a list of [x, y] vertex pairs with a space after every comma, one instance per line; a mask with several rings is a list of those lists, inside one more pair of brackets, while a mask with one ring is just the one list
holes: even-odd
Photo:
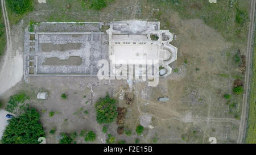
[[112, 123], [117, 117], [117, 107], [115, 106], [115, 99], [106, 95], [105, 98], [100, 98], [95, 104], [96, 108], [96, 119], [97, 122], [102, 123]]

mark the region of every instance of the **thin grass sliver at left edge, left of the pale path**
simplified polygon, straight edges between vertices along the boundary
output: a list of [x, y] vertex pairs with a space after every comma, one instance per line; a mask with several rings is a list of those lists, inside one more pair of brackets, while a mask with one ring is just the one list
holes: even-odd
[[6, 44], [6, 37], [5, 37], [5, 23], [3, 22], [2, 16], [2, 8], [0, 7], [0, 57], [5, 52], [5, 44]]

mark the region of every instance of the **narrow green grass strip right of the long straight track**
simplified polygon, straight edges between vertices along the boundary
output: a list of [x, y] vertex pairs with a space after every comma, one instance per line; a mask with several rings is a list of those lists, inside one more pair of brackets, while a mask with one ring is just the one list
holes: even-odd
[[254, 36], [254, 57], [253, 57], [253, 76], [251, 79], [251, 95], [250, 95], [250, 108], [249, 108], [249, 120], [246, 135], [246, 143], [256, 143], [256, 40]]

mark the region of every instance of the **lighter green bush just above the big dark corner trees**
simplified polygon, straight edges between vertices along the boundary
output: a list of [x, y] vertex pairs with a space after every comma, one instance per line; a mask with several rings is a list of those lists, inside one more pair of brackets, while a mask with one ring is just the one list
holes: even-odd
[[20, 103], [24, 103], [25, 100], [27, 99], [30, 99], [30, 98], [25, 93], [18, 93], [11, 96], [6, 106], [6, 110], [9, 112], [14, 112], [16, 107], [18, 107]]

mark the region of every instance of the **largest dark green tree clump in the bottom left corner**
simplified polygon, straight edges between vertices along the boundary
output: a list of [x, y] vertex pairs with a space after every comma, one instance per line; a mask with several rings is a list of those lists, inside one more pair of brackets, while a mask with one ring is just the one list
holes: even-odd
[[26, 108], [18, 118], [9, 119], [3, 132], [1, 143], [4, 144], [38, 144], [39, 137], [45, 132], [39, 122], [40, 115], [34, 108]]

